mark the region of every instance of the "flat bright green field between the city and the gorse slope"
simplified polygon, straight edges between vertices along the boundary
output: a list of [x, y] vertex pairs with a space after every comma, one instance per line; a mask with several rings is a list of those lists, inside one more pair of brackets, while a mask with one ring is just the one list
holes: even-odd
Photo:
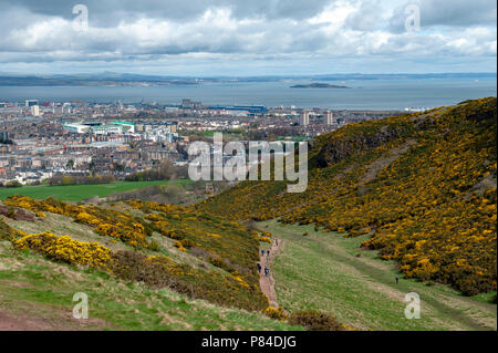
[[93, 196], [106, 197], [113, 193], [129, 191], [152, 185], [166, 185], [169, 183], [186, 185], [190, 184], [191, 180], [115, 181], [96, 185], [24, 186], [15, 188], [0, 188], [0, 199], [6, 199], [11, 195], [24, 195], [37, 199], [53, 197], [63, 201], [81, 201]]

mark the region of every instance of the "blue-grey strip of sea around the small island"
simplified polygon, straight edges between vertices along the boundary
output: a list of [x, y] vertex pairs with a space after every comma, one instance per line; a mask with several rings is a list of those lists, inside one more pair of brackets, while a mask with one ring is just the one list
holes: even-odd
[[[313, 81], [319, 82], [319, 81]], [[222, 82], [172, 86], [0, 86], [0, 102], [179, 104], [191, 98], [210, 105], [297, 106], [332, 110], [436, 107], [497, 95], [496, 77], [326, 81], [344, 89], [291, 89], [311, 81]]]

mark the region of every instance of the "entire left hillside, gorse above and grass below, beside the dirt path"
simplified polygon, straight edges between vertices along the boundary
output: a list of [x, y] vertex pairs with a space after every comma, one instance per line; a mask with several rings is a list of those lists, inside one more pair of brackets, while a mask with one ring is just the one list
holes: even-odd
[[[28, 329], [301, 330], [263, 314], [259, 238], [179, 206], [12, 196], [0, 203], [0, 316]], [[75, 292], [93, 298], [85, 323], [71, 318]]]

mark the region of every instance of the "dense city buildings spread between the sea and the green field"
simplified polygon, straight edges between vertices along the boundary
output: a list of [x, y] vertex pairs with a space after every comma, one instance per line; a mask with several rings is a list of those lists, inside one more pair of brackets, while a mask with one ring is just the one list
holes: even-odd
[[126, 175], [163, 160], [185, 165], [188, 146], [214, 132], [240, 141], [308, 139], [400, 112], [260, 105], [23, 102], [0, 104], [0, 184], [37, 184], [58, 175]]

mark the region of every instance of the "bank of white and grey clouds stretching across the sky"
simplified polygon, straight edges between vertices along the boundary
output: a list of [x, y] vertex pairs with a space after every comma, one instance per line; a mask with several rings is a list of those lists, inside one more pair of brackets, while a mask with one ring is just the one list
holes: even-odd
[[[407, 33], [402, 1], [338, 0], [309, 1], [266, 0], [249, 6], [239, 1], [173, 1], [191, 13], [174, 18], [163, 2], [144, 7], [132, 15], [125, 7], [108, 2], [108, 25], [103, 9], [105, 1], [92, 8], [89, 1], [90, 29], [73, 29], [72, 18], [48, 7], [50, 14], [30, 6], [12, 6], [0, 13], [0, 62], [2, 66], [20, 66], [22, 62], [160, 62], [177, 58], [198, 61], [224, 58], [239, 63], [286, 61], [310, 63], [313, 60], [369, 61], [390, 56], [406, 62], [414, 58], [456, 60], [467, 56], [496, 56], [496, 2], [421, 0], [419, 32]], [[126, 1], [125, 1], [126, 3]], [[259, 4], [259, 7], [258, 7]], [[132, 6], [132, 9], [135, 9]], [[144, 10], [145, 9], [145, 10]], [[449, 17], [448, 12], [458, 18]], [[492, 12], [495, 12], [492, 11]], [[162, 13], [165, 13], [162, 15]], [[92, 21], [92, 18], [98, 19]], [[425, 18], [424, 18], [425, 17]], [[424, 27], [426, 23], [426, 27]], [[485, 71], [485, 70], [484, 70]]]

